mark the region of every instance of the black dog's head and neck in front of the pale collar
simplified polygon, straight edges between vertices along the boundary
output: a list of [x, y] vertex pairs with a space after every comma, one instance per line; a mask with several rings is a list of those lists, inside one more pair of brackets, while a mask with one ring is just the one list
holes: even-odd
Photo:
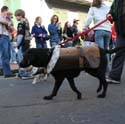
[[48, 48], [32, 48], [25, 52], [20, 67], [27, 68], [30, 65], [34, 67], [46, 67], [53, 49]]

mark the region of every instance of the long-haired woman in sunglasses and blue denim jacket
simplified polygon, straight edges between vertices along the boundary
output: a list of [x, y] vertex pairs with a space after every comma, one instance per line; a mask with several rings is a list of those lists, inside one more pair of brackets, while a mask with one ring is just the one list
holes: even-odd
[[60, 42], [60, 30], [61, 27], [59, 23], [59, 17], [57, 15], [53, 15], [51, 17], [51, 24], [48, 25], [51, 47], [57, 45]]

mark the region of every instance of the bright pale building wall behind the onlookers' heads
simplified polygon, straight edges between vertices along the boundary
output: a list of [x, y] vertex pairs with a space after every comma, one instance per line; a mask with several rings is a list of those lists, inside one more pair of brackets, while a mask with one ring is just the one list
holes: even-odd
[[[53, 14], [57, 14], [60, 18], [62, 27], [66, 21], [73, 22], [73, 19], [79, 19], [79, 28], [82, 30], [82, 25], [84, 23], [87, 10], [77, 11], [78, 8], [73, 6], [73, 9], [69, 5], [65, 6], [58, 5], [59, 3], [50, 6], [46, 0], [0, 0], [0, 5], [7, 5], [11, 12], [15, 12], [17, 9], [23, 9], [26, 12], [26, 17], [30, 21], [30, 25], [34, 24], [34, 20], [37, 16], [41, 16], [43, 19], [43, 24], [48, 27], [50, 23], [50, 18]], [[84, 8], [84, 7], [83, 7]], [[14, 17], [15, 27], [17, 26], [17, 21]]]

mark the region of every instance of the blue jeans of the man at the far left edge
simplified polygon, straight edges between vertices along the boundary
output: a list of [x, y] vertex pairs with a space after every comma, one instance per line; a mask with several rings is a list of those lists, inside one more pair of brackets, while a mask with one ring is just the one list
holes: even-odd
[[12, 74], [10, 70], [10, 41], [8, 36], [0, 37], [0, 52], [4, 76]]

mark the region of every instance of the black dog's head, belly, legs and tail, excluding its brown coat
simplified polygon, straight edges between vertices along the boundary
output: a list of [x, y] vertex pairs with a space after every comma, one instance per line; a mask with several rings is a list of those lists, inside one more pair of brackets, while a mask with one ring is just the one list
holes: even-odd
[[[124, 48], [124, 47], [123, 47]], [[105, 72], [106, 72], [106, 66], [107, 66], [107, 53], [114, 53], [116, 51], [120, 51], [123, 48], [115, 48], [113, 50], [104, 50], [99, 48], [100, 52], [100, 65], [96, 69], [92, 68], [83, 68], [83, 69], [70, 69], [67, 71], [52, 71], [51, 74], [55, 78], [55, 85], [53, 88], [52, 93], [49, 96], [45, 96], [44, 99], [50, 100], [54, 96], [57, 95], [57, 92], [65, 78], [67, 78], [72, 90], [76, 92], [77, 98], [81, 99], [82, 95], [80, 91], [76, 88], [74, 78], [77, 77], [80, 74], [80, 71], [85, 71], [89, 73], [90, 75], [97, 77], [100, 81], [99, 87], [97, 89], [97, 93], [101, 92], [101, 94], [98, 95], [98, 98], [104, 98], [106, 97], [106, 92], [107, 92], [107, 86], [108, 83], [106, 82], [105, 79]], [[50, 61], [50, 58], [53, 53], [53, 48], [48, 49], [48, 48], [33, 48], [29, 49], [25, 55], [23, 61], [20, 63], [20, 66], [25, 68], [29, 67], [30, 65], [33, 65], [35, 67], [47, 67], [48, 62]]]

